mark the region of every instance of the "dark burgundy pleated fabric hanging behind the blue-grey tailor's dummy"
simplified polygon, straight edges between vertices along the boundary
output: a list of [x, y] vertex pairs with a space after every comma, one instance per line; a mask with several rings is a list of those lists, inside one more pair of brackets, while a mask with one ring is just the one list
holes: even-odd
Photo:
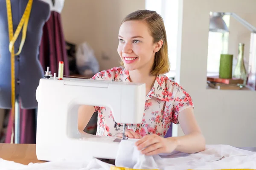
[[[63, 74], [67, 76], [70, 75], [67, 51], [65, 48], [65, 40], [61, 24], [61, 16], [58, 12], [52, 11], [49, 20], [44, 25], [39, 51], [39, 60], [44, 71], [46, 71], [47, 67], [49, 66], [52, 74], [57, 73], [58, 76], [58, 62], [63, 61]], [[12, 119], [11, 116], [9, 116], [5, 143], [11, 142], [11, 136]], [[35, 142], [35, 109], [28, 110], [20, 108], [20, 143], [35, 144]]]

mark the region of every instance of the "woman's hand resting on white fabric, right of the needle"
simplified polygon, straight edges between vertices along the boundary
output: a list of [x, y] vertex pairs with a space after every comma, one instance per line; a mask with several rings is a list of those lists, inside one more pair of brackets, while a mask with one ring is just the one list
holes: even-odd
[[170, 138], [163, 138], [156, 134], [143, 136], [135, 145], [138, 150], [141, 150], [145, 155], [156, 155], [159, 153], [172, 153], [177, 147], [177, 140]]

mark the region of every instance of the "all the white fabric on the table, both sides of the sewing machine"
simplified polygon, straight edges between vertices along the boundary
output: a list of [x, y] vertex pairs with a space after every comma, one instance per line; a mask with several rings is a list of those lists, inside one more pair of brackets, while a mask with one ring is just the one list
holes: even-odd
[[[256, 152], [229, 145], [207, 145], [206, 150], [194, 154], [178, 152], [166, 156], [145, 156], [134, 146], [135, 141], [124, 140], [120, 143], [116, 157], [117, 167], [161, 170], [256, 169]], [[223, 156], [225, 158], [221, 159]], [[0, 159], [1, 170], [110, 170], [111, 166], [98, 159], [88, 162], [52, 161], [29, 165]]]

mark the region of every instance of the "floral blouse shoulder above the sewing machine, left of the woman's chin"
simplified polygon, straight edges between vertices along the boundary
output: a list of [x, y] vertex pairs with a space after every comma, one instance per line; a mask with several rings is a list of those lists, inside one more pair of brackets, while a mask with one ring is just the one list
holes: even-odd
[[91, 79], [116, 81], [116, 79], [119, 79], [123, 74], [126, 74], [125, 68], [122, 66], [113, 67], [96, 73]]

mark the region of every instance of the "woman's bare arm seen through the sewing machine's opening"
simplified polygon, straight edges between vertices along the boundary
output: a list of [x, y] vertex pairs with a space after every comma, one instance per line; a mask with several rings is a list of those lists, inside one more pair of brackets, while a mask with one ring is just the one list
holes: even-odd
[[95, 112], [94, 106], [91, 105], [81, 105], [78, 109], [78, 130], [83, 133], [84, 128], [90, 121], [93, 113]]

